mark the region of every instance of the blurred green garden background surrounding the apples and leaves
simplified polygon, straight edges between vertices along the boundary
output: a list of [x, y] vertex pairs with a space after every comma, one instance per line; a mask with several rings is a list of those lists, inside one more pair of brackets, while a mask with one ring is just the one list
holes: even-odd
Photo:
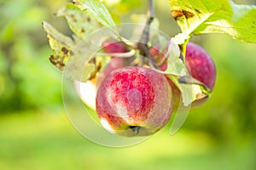
[[[225, 35], [193, 37], [212, 54], [212, 98], [192, 109], [182, 129], [170, 125], [147, 141], [113, 149], [84, 139], [67, 119], [61, 73], [41, 22], [70, 31], [55, 17], [67, 0], [0, 0], [0, 169], [256, 169], [256, 44]], [[254, 1], [236, 1], [255, 4]], [[123, 21], [144, 14], [145, 0], [108, 0]], [[179, 32], [167, 0], [155, 3], [160, 29]]]

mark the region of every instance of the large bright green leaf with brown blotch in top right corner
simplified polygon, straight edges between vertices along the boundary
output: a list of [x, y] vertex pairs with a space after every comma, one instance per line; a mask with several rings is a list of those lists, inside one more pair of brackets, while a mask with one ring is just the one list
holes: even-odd
[[256, 42], [256, 6], [230, 0], [170, 0], [172, 17], [183, 34], [225, 33]]

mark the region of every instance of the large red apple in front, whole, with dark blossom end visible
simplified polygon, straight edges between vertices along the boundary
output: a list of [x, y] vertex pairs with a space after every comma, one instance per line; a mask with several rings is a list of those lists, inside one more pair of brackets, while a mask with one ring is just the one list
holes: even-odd
[[112, 71], [98, 88], [96, 112], [102, 126], [121, 136], [148, 136], [172, 115], [172, 88], [166, 77], [145, 67]]

